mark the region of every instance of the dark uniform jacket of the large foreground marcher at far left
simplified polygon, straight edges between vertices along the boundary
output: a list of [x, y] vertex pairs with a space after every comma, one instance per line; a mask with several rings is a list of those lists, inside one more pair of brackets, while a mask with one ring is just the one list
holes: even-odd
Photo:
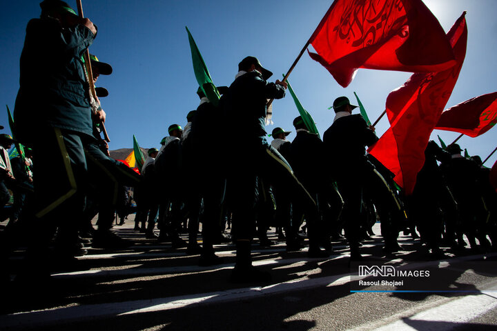
[[92, 134], [81, 56], [93, 39], [81, 24], [62, 28], [49, 18], [28, 23], [14, 111], [21, 141], [32, 140], [32, 133], [47, 126]]

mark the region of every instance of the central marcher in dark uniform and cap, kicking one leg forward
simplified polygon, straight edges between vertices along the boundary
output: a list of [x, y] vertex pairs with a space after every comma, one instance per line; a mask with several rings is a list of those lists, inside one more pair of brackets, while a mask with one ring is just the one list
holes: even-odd
[[255, 230], [257, 177], [271, 185], [283, 185], [289, 192], [302, 196], [302, 202], [314, 204], [298, 182], [286, 160], [266, 139], [265, 119], [268, 99], [284, 97], [286, 83], [267, 79], [272, 72], [262, 67], [255, 57], [246, 57], [238, 65], [239, 72], [223, 95], [225, 127], [236, 130], [236, 139], [227, 143], [227, 197], [233, 215], [231, 233], [236, 245], [233, 282], [270, 281], [271, 274], [253, 267], [251, 240]]

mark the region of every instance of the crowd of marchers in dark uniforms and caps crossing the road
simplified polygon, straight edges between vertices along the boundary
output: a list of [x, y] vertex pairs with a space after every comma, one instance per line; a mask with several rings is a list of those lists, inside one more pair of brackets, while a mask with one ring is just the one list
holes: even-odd
[[[361, 242], [377, 221], [387, 254], [402, 249], [402, 231], [413, 238], [419, 233], [421, 247], [436, 256], [467, 243], [475, 252], [497, 247], [496, 191], [478, 157], [463, 157], [455, 143], [444, 150], [429, 141], [416, 187], [406, 196], [393, 174], [366, 153], [378, 137], [360, 114], [352, 114], [356, 106], [347, 97], [333, 102], [322, 139], [302, 117], [293, 121], [293, 141], [282, 128], [268, 135], [268, 100], [283, 98], [287, 86], [270, 82], [271, 71], [255, 57], [242, 59], [233, 83], [217, 88], [220, 99], [206, 96], [206, 88], [215, 87], [201, 86], [199, 106], [188, 112], [186, 126], [171, 124], [137, 174], [112, 159], [100, 137], [106, 114], [98, 98], [108, 92], [100, 88], [92, 98], [89, 80], [113, 70], [90, 56], [88, 78], [83, 55], [97, 27], [64, 1], [40, 6], [21, 54], [14, 137], [0, 137], [0, 202], [2, 220], [9, 219], [1, 232], [1, 258], [8, 259], [19, 238], [26, 240], [19, 279], [48, 277], [48, 257], [68, 265], [87, 253], [86, 245], [130, 248], [133, 241], [112, 230], [116, 212], [121, 224], [136, 212], [135, 230], [199, 254], [199, 265], [222, 263], [214, 245], [232, 241], [233, 282], [271, 281], [251, 261], [254, 242], [273, 245], [271, 227], [286, 250], [308, 245], [307, 254], [315, 258], [329, 257], [332, 241], [343, 235], [351, 261], [363, 259]], [[227, 141], [215, 136], [220, 127], [232, 130]], [[6, 151], [13, 143], [18, 155], [11, 161]], [[131, 196], [136, 209], [130, 208]], [[184, 229], [186, 241], [180, 236]], [[9, 277], [8, 270], [3, 276]]]

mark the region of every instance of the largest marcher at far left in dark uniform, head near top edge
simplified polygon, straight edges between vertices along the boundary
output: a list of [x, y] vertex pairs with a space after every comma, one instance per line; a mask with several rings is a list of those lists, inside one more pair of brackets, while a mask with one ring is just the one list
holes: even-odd
[[[92, 114], [81, 61], [97, 35], [96, 26], [64, 1], [45, 0], [40, 7], [41, 17], [26, 28], [14, 123], [17, 139], [32, 148], [37, 163], [33, 183], [38, 220], [30, 227], [28, 259], [43, 264], [56, 227], [62, 239], [59, 252], [72, 257], [79, 250], [79, 221], [73, 215], [81, 215], [85, 206], [84, 145], [95, 139], [92, 119], [105, 121], [105, 112], [100, 108]], [[45, 272], [46, 263], [33, 270]]]

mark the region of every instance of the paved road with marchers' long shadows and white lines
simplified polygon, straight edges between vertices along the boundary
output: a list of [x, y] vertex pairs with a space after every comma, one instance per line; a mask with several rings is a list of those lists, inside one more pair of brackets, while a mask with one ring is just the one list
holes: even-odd
[[[360, 264], [392, 266], [396, 275], [365, 277], [349, 265], [344, 242], [328, 259], [255, 242], [254, 264], [273, 281], [240, 285], [228, 282], [233, 245], [215, 247], [224, 264], [199, 267], [198, 256], [144, 239], [132, 223], [115, 226], [132, 248], [90, 249], [77, 268], [54, 272], [43, 286], [10, 285], [0, 330], [497, 330], [496, 253], [447, 250], [433, 259], [401, 236], [402, 252], [385, 255], [377, 235], [364, 242]], [[14, 252], [13, 265], [21, 254]]]

